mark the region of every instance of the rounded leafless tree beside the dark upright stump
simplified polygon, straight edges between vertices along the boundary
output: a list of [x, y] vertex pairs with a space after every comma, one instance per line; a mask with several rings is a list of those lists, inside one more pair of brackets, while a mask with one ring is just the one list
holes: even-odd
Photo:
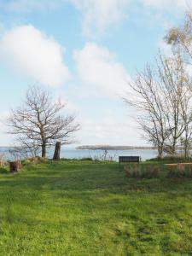
[[61, 102], [53, 101], [49, 91], [32, 86], [26, 92], [23, 106], [10, 113], [9, 133], [16, 135], [24, 148], [41, 148], [42, 157], [46, 157], [48, 147], [58, 140], [72, 143], [74, 132], [79, 130], [75, 116], [64, 115], [64, 108]]

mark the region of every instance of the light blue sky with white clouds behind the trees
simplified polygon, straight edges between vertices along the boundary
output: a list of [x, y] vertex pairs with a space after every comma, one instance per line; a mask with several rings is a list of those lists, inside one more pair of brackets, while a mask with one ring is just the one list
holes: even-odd
[[77, 145], [147, 145], [123, 102], [192, 0], [0, 0], [0, 145], [5, 119], [38, 84], [67, 103]]

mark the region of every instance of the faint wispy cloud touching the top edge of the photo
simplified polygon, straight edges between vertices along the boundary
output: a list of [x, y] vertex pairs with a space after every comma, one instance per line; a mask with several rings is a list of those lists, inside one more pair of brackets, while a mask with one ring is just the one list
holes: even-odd
[[108, 26], [125, 17], [131, 0], [69, 0], [83, 15], [85, 35], [101, 35]]

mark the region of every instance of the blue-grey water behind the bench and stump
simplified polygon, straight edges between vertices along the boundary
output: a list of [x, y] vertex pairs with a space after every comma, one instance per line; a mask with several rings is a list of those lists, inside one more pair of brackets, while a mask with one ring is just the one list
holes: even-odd
[[[49, 149], [48, 157], [52, 158], [54, 149]], [[6, 159], [10, 160], [12, 157], [9, 154], [9, 148], [0, 147], [0, 154], [4, 154]], [[88, 150], [88, 149], [75, 149], [75, 148], [61, 148], [61, 158], [67, 159], [82, 159], [92, 158], [103, 160], [118, 160], [119, 155], [137, 155], [142, 160], [148, 160], [157, 156], [157, 151], [153, 149], [131, 149], [131, 150], [108, 150], [107, 154], [104, 150]]]

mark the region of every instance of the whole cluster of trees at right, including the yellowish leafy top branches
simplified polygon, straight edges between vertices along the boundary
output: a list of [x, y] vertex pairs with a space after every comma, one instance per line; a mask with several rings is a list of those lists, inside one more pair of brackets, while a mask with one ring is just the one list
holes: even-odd
[[192, 147], [192, 15], [165, 37], [172, 52], [159, 55], [128, 83], [124, 100], [137, 109], [137, 124], [145, 139], [164, 154], [189, 157]]

